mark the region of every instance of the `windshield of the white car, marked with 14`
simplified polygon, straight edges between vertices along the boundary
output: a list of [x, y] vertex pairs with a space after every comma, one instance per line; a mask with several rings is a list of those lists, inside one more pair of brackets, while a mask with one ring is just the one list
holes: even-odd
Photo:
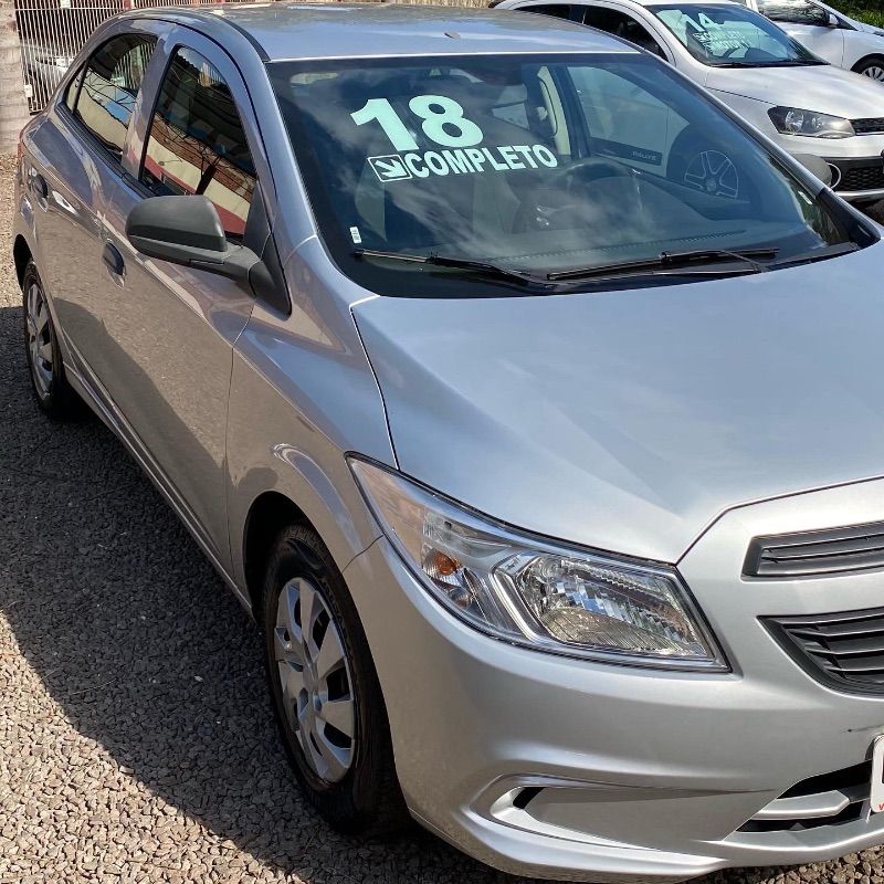
[[713, 67], [825, 64], [764, 15], [732, 3], [649, 7], [699, 62]]

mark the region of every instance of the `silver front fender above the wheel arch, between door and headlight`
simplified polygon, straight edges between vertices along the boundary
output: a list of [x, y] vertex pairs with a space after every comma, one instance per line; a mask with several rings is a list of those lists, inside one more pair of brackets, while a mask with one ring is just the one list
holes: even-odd
[[234, 578], [243, 588], [249, 518], [262, 495], [294, 504], [344, 570], [380, 536], [346, 454], [397, 465], [380, 389], [346, 298], [339, 290], [306, 296], [316, 276], [299, 257], [288, 262], [286, 276], [292, 315], [256, 304], [233, 356], [228, 509]]

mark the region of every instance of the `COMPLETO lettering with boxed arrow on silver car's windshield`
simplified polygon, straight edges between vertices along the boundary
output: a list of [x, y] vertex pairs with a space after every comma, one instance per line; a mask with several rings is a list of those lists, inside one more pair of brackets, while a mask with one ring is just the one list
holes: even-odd
[[477, 172], [508, 172], [517, 169], [555, 169], [556, 155], [544, 145], [501, 145], [497, 147], [466, 147], [455, 150], [425, 150], [411, 154], [388, 154], [368, 158], [375, 175], [381, 181], [404, 181], [409, 178], [429, 178], [431, 175], [476, 175]]

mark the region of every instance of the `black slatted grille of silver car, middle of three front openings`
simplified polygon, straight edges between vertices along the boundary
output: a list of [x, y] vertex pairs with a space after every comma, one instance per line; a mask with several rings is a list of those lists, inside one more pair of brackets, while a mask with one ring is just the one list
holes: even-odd
[[792, 659], [823, 684], [884, 693], [884, 608], [766, 617], [762, 622]]

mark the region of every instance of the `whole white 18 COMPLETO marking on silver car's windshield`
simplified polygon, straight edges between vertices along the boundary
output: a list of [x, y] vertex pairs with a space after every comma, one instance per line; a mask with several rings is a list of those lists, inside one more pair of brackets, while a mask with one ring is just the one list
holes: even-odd
[[383, 129], [394, 154], [367, 157], [380, 181], [406, 181], [430, 176], [475, 175], [484, 171], [552, 169], [556, 155], [545, 145], [483, 147], [484, 133], [464, 116], [461, 104], [444, 95], [415, 95], [409, 110], [421, 120], [423, 134], [440, 146], [421, 150], [388, 98], [370, 98], [350, 114], [357, 126], [375, 122]]

